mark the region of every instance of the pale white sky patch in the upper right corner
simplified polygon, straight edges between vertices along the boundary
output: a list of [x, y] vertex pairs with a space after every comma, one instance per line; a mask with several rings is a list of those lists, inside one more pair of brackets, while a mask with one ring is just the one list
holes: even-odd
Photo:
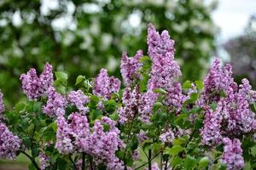
[[241, 35], [252, 14], [256, 14], [256, 0], [218, 0], [218, 8], [212, 13], [220, 28], [218, 41], [225, 42]]

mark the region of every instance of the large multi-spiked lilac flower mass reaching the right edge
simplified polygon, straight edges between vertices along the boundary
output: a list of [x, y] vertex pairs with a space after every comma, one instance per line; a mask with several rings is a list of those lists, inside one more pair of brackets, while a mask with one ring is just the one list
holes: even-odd
[[[225, 65], [223, 70], [218, 59], [215, 60], [205, 80], [206, 89], [199, 102], [207, 110], [201, 130], [203, 144], [220, 144], [225, 136], [250, 133], [256, 129], [255, 114], [249, 106], [255, 101], [256, 92], [247, 79], [241, 82], [238, 87], [233, 81], [230, 65]], [[220, 95], [222, 92], [226, 95]], [[209, 102], [217, 102], [216, 111], [209, 110]]]

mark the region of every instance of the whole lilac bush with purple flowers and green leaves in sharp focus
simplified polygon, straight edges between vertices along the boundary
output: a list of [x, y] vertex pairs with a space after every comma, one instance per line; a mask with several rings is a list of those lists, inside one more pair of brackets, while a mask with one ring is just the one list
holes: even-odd
[[68, 76], [46, 63], [20, 77], [27, 101], [5, 111], [0, 157], [24, 154], [31, 169], [256, 168], [256, 91], [215, 59], [207, 77], [181, 83], [168, 31], [148, 26], [148, 56], [122, 54], [123, 84], [102, 69]]

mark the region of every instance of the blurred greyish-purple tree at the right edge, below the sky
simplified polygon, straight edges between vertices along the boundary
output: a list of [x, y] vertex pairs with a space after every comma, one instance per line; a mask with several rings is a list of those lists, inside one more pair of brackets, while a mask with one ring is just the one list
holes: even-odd
[[256, 15], [250, 18], [244, 35], [230, 39], [224, 48], [231, 56], [236, 81], [247, 77], [256, 87]]

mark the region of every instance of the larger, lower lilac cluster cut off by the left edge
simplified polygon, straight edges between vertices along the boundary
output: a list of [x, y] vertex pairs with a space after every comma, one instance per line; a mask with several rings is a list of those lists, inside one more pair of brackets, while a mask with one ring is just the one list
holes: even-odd
[[16, 151], [20, 149], [21, 141], [9, 131], [5, 124], [0, 122], [0, 158], [13, 160]]

